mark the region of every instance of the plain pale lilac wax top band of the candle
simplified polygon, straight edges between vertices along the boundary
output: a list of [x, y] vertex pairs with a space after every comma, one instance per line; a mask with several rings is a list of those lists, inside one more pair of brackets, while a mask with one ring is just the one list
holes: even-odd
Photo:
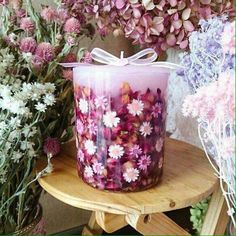
[[73, 69], [74, 86], [88, 86], [97, 94], [119, 93], [122, 83], [127, 82], [133, 90], [145, 92], [147, 88], [166, 92], [170, 69], [155, 66], [80, 65]]

